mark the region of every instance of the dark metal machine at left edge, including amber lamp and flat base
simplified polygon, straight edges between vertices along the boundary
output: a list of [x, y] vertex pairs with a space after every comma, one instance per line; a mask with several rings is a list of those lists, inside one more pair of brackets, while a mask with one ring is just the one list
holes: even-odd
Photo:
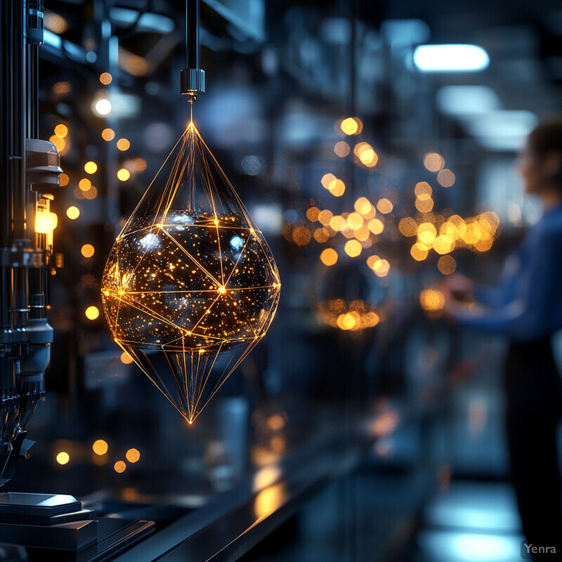
[[[57, 216], [50, 204], [62, 169], [55, 145], [38, 138], [42, 41], [41, 0], [1, 2], [0, 485], [32, 445], [26, 427], [44, 398], [53, 341], [46, 311]], [[65, 559], [102, 561], [153, 530], [151, 521], [96, 518], [72, 496], [0, 493], [0, 542], [27, 547], [32, 560], [65, 552]]]

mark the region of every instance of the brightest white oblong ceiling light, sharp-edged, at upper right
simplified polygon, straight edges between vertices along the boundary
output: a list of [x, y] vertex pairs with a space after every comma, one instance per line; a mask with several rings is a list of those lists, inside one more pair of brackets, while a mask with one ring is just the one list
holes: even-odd
[[420, 45], [414, 64], [421, 72], [476, 72], [490, 64], [490, 57], [477, 45]]

